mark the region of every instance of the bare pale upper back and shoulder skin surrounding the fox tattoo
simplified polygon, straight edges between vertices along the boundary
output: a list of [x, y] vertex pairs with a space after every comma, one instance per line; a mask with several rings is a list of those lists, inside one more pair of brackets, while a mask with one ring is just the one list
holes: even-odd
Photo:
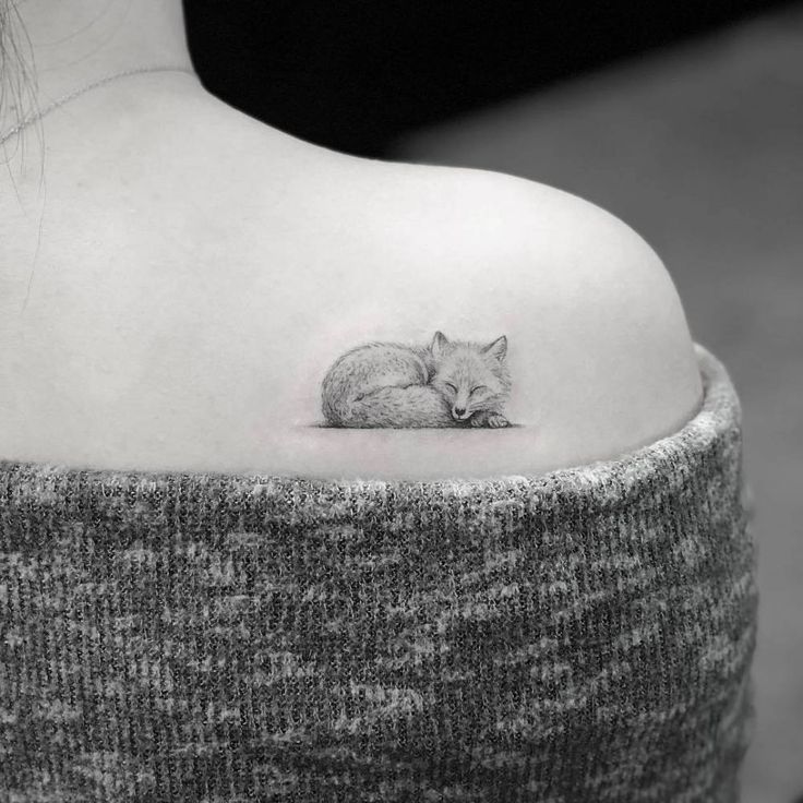
[[[170, 3], [146, 7], [167, 14], [165, 29], [177, 24]], [[158, 21], [146, 22], [132, 25], [127, 64], [97, 62], [49, 91], [179, 60], [168, 35], [142, 58], [135, 32]], [[19, 197], [0, 196], [0, 459], [538, 476], [651, 443], [699, 408], [669, 274], [579, 199], [501, 173], [338, 154], [181, 73], [112, 82], [46, 120], [46, 191], [28, 154], [26, 168], [10, 164]], [[316, 426], [339, 353], [427, 344], [439, 329], [506, 335], [505, 416], [518, 426]]]

